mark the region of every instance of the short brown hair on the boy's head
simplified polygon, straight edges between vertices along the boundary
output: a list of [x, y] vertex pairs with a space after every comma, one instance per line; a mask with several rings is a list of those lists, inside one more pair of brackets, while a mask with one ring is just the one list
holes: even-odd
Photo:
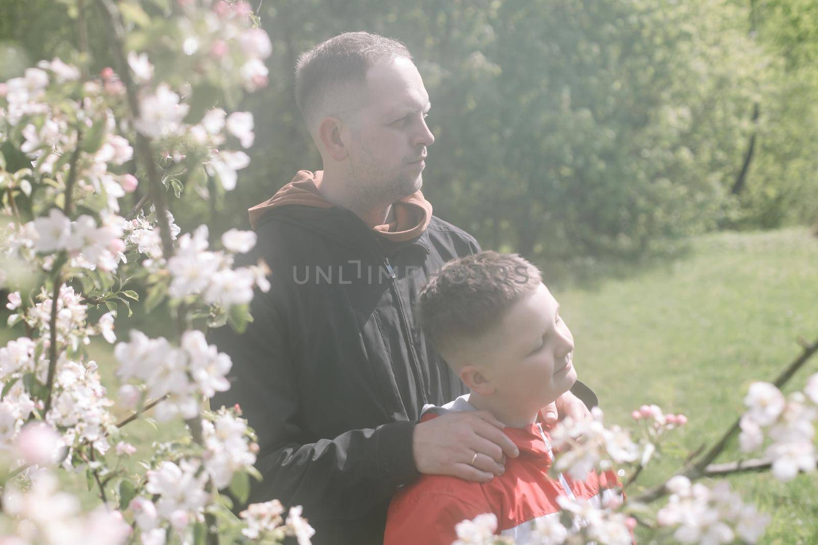
[[454, 259], [420, 291], [420, 324], [438, 351], [452, 353], [488, 333], [541, 283], [540, 270], [517, 254], [486, 251]]

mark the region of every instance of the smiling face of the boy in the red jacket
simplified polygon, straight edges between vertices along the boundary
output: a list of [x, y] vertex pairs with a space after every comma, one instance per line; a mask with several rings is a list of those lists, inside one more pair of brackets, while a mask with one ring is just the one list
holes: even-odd
[[483, 395], [490, 395], [492, 404], [528, 418], [576, 382], [573, 336], [559, 308], [541, 283], [475, 346], [483, 352], [477, 365], [488, 386]]

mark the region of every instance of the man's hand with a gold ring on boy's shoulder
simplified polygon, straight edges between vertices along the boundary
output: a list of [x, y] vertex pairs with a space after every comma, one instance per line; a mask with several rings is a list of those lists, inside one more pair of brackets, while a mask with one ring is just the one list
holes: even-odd
[[488, 482], [506, 470], [506, 456], [519, 455], [517, 446], [503, 433], [504, 427], [485, 411], [447, 413], [420, 422], [412, 436], [417, 470]]

